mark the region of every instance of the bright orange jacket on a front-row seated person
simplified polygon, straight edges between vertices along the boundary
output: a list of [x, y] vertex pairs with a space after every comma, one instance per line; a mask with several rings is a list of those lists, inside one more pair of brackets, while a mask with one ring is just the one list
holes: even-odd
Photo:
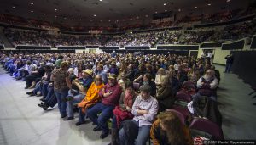
[[85, 98], [78, 104], [78, 106], [82, 108], [82, 110], [84, 111], [84, 109], [99, 102], [101, 100], [101, 97], [99, 96], [99, 92], [103, 86], [104, 84], [100, 86], [96, 86], [96, 83], [93, 82], [90, 85], [88, 91], [86, 92]]

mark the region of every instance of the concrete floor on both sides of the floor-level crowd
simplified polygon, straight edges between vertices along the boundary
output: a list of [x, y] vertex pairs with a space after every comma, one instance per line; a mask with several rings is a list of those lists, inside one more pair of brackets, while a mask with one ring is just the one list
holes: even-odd
[[[223, 66], [217, 66], [223, 72]], [[90, 124], [76, 126], [78, 120], [63, 121], [58, 109], [38, 108], [39, 98], [28, 97], [24, 81], [15, 81], [0, 69], [0, 144], [84, 144], [106, 145], [110, 136], [100, 139], [101, 132]], [[221, 73], [218, 90], [219, 109], [223, 114], [226, 139], [255, 139], [256, 99], [253, 90], [234, 74]], [[253, 94], [253, 95], [256, 95]]]

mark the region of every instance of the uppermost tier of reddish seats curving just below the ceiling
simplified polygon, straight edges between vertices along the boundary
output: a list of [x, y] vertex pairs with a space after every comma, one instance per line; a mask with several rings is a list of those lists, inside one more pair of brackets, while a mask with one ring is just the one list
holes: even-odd
[[[10, 14], [3, 14], [3, 19], [0, 21], [7, 24], [12, 25], [22, 25], [28, 27], [36, 27], [36, 28], [49, 28], [49, 29], [59, 29], [61, 31], [89, 31], [89, 30], [107, 30], [108, 32], [120, 32], [120, 31], [127, 31], [127, 30], [147, 30], [147, 29], [154, 29], [154, 28], [164, 28], [164, 27], [172, 27], [174, 25], [183, 25], [182, 23], [190, 23], [197, 21], [201, 24], [205, 23], [216, 23], [216, 22], [224, 22], [229, 21], [232, 19], [240, 18], [244, 15], [253, 14], [255, 12], [255, 3], [251, 3], [248, 5], [248, 8], [245, 10], [242, 9], [233, 9], [233, 10], [220, 10], [218, 12], [212, 14], [201, 14], [201, 15], [181, 15], [181, 18], [177, 18], [176, 21], [168, 20], [155, 23], [153, 20], [148, 25], [137, 23], [135, 25], [124, 25], [122, 27], [102, 27], [102, 26], [72, 26], [72, 25], [63, 25], [63, 24], [55, 24], [52, 25], [48, 21], [41, 21], [41, 20], [27, 20], [25, 18], [21, 18], [18, 16], [10, 15]], [[138, 19], [138, 18], [137, 18]], [[121, 23], [121, 21], [119, 21]]]

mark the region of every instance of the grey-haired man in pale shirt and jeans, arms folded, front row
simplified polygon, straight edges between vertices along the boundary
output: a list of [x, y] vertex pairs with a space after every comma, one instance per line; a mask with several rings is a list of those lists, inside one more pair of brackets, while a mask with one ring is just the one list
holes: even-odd
[[158, 103], [150, 96], [151, 87], [140, 88], [141, 94], [132, 105], [132, 120], [126, 120], [119, 131], [120, 144], [145, 145], [150, 135], [150, 128], [158, 112]]

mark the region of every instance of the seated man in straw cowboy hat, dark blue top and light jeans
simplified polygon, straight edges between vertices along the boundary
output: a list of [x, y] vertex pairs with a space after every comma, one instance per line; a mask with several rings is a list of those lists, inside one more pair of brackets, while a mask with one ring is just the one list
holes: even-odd
[[83, 70], [82, 79], [74, 80], [73, 85], [79, 88], [79, 92], [69, 91], [66, 98], [67, 101], [67, 118], [64, 120], [73, 120], [73, 103], [79, 103], [84, 99], [87, 90], [92, 83], [92, 70]]

